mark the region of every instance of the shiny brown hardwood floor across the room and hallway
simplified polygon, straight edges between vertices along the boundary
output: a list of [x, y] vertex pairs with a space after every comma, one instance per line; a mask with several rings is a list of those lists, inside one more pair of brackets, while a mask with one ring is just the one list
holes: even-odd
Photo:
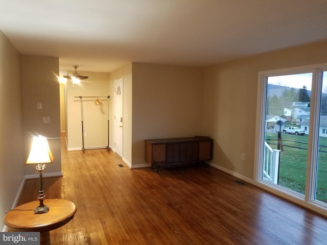
[[[74, 202], [77, 213], [50, 232], [52, 245], [326, 244], [326, 218], [211, 166], [157, 174], [131, 170], [106, 149], [62, 148], [62, 172], [43, 179], [44, 193]], [[38, 185], [28, 180], [18, 205], [36, 200]]]

